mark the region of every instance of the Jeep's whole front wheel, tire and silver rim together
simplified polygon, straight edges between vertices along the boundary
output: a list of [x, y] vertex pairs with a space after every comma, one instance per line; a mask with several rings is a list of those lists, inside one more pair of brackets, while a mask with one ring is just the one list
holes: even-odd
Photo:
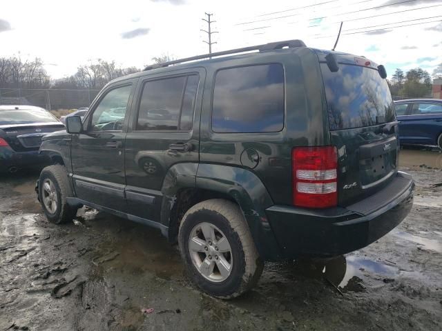
[[77, 208], [66, 202], [66, 198], [72, 196], [68, 174], [63, 165], [50, 165], [41, 170], [39, 201], [50, 222], [60, 224], [73, 220]]

